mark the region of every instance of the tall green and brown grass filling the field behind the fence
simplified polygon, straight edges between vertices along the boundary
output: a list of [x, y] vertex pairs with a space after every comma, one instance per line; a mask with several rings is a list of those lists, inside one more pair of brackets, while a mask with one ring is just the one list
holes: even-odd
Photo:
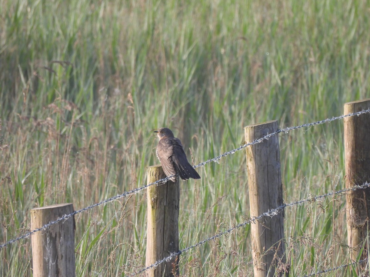
[[[29, 231], [34, 207], [80, 209], [145, 184], [159, 127], [198, 164], [242, 144], [244, 126], [369, 98], [369, 12], [366, 0], [0, 0], [1, 243]], [[344, 187], [342, 126], [279, 135], [285, 202]], [[198, 172], [181, 182], [181, 249], [249, 216], [242, 151]], [[348, 261], [344, 203], [285, 211], [292, 276]], [[141, 192], [79, 214], [77, 276], [141, 269], [146, 208]], [[2, 276], [32, 275], [30, 239], [0, 255]], [[182, 254], [180, 269], [251, 276], [251, 261], [247, 226]]]

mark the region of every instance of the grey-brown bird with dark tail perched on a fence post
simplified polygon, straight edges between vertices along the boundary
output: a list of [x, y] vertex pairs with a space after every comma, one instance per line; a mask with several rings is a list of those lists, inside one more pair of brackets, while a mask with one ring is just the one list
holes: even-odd
[[175, 175], [170, 178], [171, 181], [175, 182], [177, 176], [180, 176], [183, 180], [201, 178], [198, 172], [189, 164], [181, 141], [174, 137], [170, 129], [161, 128], [154, 131], [154, 133], [157, 133], [159, 137], [157, 157], [161, 162], [163, 171], [167, 177]]

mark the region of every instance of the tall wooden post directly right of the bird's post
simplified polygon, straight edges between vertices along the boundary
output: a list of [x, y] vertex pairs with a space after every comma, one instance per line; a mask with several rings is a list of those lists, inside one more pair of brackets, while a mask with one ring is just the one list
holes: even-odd
[[[250, 143], [276, 130], [276, 120], [244, 127], [245, 141]], [[283, 204], [278, 135], [246, 147], [246, 158], [250, 216], [253, 218]], [[251, 225], [254, 276], [288, 275], [288, 269], [283, 269], [284, 213], [265, 216], [255, 223]]]

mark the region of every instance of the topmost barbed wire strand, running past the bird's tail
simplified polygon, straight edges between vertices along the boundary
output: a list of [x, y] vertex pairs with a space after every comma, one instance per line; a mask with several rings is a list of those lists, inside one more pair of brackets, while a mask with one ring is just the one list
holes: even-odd
[[[311, 127], [311, 126], [315, 126], [315, 125], [319, 125], [319, 124], [323, 124], [323, 123], [330, 123], [330, 122], [332, 122], [334, 120], [339, 120], [339, 119], [343, 119], [345, 117], [350, 117], [350, 116], [359, 116], [360, 114], [369, 113], [369, 112], [370, 112], [370, 109], [367, 109], [367, 110], [362, 110], [362, 111], [356, 112], [356, 113], [349, 113], [349, 114], [343, 114], [343, 115], [337, 116], [337, 117], [332, 117], [331, 119], [328, 118], [328, 119], [319, 120], [319, 121], [312, 122], [312, 123], [302, 124], [302, 125], [299, 125], [299, 126], [293, 126], [293, 127], [287, 127], [287, 128], [284, 128], [284, 129], [279, 129], [279, 130], [277, 130], [277, 131], [275, 131], [273, 133], [267, 134], [266, 136], [263, 136], [263, 137], [261, 137], [261, 138], [259, 138], [257, 140], [254, 140], [251, 143], [246, 143], [246, 144], [244, 144], [244, 145], [242, 145], [242, 146], [240, 146], [238, 148], [235, 148], [235, 149], [233, 149], [231, 151], [225, 152], [225, 153], [219, 155], [218, 157], [215, 157], [215, 158], [206, 160], [203, 163], [199, 163], [198, 165], [195, 165], [194, 168], [204, 166], [204, 165], [206, 165], [208, 163], [211, 163], [211, 162], [217, 162], [217, 163], [219, 163], [219, 161], [221, 160], [222, 157], [226, 157], [229, 154], [235, 154], [237, 151], [240, 151], [240, 150], [246, 148], [247, 146], [250, 146], [250, 145], [253, 145], [253, 144], [257, 144], [257, 143], [261, 143], [263, 140], [268, 140], [270, 137], [275, 136], [276, 134], [279, 134], [279, 133], [288, 133], [290, 130], [296, 130], [296, 129], [300, 129], [300, 128], [303, 128], [303, 127]], [[68, 215], [64, 215], [64, 216], [62, 216], [61, 218], [58, 218], [55, 221], [51, 221], [51, 222], [47, 223], [46, 225], [44, 225], [41, 228], [37, 228], [37, 229], [31, 230], [30, 232], [28, 232], [28, 233], [26, 233], [26, 234], [24, 234], [24, 235], [22, 235], [20, 237], [17, 237], [16, 239], [11, 239], [11, 240], [7, 241], [4, 244], [0, 244], [0, 249], [2, 249], [3, 247], [6, 247], [7, 245], [9, 245], [11, 243], [17, 242], [18, 240], [21, 240], [21, 239], [25, 239], [27, 237], [30, 237], [34, 233], [36, 233], [38, 231], [41, 231], [41, 230], [45, 230], [49, 226], [51, 226], [53, 224], [56, 224], [58, 222], [61, 222], [62, 220], [66, 220], [66, 219], [70, 218], [71, 216], [74, 216], [74, 215], [76, 215], [78, 213], [81, 213], [81, 212], [90, 210], [92, 208], [95, 208], [95, 207], [100, 206], [100, 205], [103, 205], [103, 204], [107, 204], [109, 202], [112, 202], [112, 201], [117, 200], [117, 199], [122, 198], [122, 197], [126, 197], [126, 196], [129, 196], [129, 195], [137, 194], [139, 191], [141, 191], [141, 190], [143, 190], [143, 189], [145, 189], [145, 188], [147, 188], [147, 187], [149, 187], [151, 185], [159, 184], [161, 182], [166, 182], [172, 176], [169, 176], [169, 177], [160, 179], [158, 181], [155, 181], [155, 182], [150, 183], [150, 184], [147, 184], [147, 185], [142, 185], [141, 187], [138, 187], [138, 188], [135, 188], [135, 189], [126, 191], [123, 194], [118, 194], [116, 196], [112, 196], [111, 198], [102, 200], [101, 202], [98, 202], [98, 203], [96, 203], [94, 205], [87, 206], [87, 207], [82, 208], [82, 209], [80, 209], [78, 211], [74, 211], [73, 213], [70, 213]]]

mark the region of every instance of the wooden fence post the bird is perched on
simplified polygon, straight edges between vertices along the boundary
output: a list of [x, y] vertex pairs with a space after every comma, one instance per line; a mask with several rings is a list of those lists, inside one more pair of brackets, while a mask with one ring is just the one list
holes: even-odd
[[[166, 175], [160, 165], [148, 167], [148, 184]], [[148, 228], [146, 265], [179, 251], [179, 181], [147, 188]], [[148, 270], [149, 277], [179, 276], [179, 256]]]

